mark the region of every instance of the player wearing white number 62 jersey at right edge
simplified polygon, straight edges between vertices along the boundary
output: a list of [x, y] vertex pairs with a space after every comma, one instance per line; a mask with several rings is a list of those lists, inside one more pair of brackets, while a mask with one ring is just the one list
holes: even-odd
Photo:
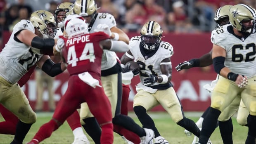
[[211, 107], [202, 123], [199, 144], [206, 144], [215, 129], [212, 123], [217, 122], [220, 113], [238, 95], [249, 110], [249, 132], [245, 144], [255, 143], [255, 17], [255, 9], [249, 5], [234, 5], [229, 10], [231, 25], [212, 31], [213, 66], [220, 76], [211, 95]]

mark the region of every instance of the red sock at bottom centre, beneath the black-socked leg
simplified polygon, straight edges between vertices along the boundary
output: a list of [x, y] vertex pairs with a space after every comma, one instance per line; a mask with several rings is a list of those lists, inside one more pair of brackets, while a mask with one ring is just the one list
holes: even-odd
[[125, 128], [123, 128], [119, 125], [114, 125], [114, 130], [115, 130], [115, 132], [118, 132], [119, 134], [126, 137], [126, 139], [133, 142], [134, 144], [140, 144], [140, 137], [138, 135], [136, 135], [134, 132], [126, 130]]

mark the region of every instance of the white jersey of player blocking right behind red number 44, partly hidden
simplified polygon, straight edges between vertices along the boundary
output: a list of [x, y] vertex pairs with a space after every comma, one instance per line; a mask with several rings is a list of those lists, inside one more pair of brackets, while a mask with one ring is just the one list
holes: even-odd
[[[98, 13], [89, 33], [95, 33], [95, 29], [97, 29], [97, 26], [99, 24], [107, 24], [109, 28], [116, 26], [116, 20], [113, 15], [108, 13]], [[116, 53], [109, 51], [109, 50], [103, 50], [102, 54], [102, 62], [101, 62], [101, 70], [107, 70], [111, 67], [113, 67], [116, 64]]]

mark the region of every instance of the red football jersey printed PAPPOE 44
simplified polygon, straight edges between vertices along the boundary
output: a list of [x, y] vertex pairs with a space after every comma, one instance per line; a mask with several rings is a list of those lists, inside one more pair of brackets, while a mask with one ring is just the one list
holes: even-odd
[[100, 41], [109, 39], [109, 35], [104, 32], [88, 33], [74, 38], [65, 38], [62, 49], [62, 57], [68, 64], [69, 75], [83, 72], [94, 72], [99, 74], [101, 71], [101, 59], [103, 50]]

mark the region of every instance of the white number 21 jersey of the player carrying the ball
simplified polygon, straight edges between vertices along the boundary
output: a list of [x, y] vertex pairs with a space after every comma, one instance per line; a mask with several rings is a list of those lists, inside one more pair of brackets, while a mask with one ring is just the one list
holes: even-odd
[[[173, 55], [173, 46], [168, 42], [161, 41], [158, 50], [152, 57], [144, 57], [140, 51], [140, 42], [140, 36], [135, 36], [130, 39], [129, 46], [134, 60], [140, 65], [140, 83], [144, 84], [144, 79], [148, 78], [146, 73], [154, 74], [155, 76], [162, 75], [160, 63]], [[159, 84], [154, 83], [154, 85]]]

